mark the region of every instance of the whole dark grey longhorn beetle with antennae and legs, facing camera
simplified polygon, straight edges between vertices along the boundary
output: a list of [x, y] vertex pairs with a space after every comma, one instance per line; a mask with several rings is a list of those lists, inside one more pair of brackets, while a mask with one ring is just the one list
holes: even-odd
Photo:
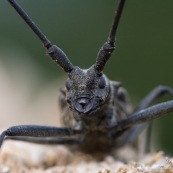
[[[98, 52], [96, 63], [88, 69], [74, 66], [66, 54], [53, 45], [15, 0], [8, 0], [43, 43], [47, 54], [68, 75], [62, 89], [61, 107], [65, 127], [38, 125], [12, 126], [0, 135], [5, 139], [45, 144], [70, 144], [82, 151], [111, 151], [137, 136], [146, 123], [173, 111], [173, 100], [151, 106], [163, 94], [173, 96], [173, 89], [153, 89], [132, 111], [126, 90], [120, 82], [109, 80], [103, 69], [115, 49], [115, 36], [125, 0], [119, 0], [107, 41]], [[69, 108], [69, 109], [67, 109]]]

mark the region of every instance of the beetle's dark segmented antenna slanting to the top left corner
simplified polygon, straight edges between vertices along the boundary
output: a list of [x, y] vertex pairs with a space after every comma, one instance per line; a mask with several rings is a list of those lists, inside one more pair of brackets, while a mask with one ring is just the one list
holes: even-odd
[[20, 5], [15, 0], [8, 0], [8, 2], [14, 7], [17, 13], [23, 18], [23, 20], [29, 25], [29, 27], [34, 31], [38, 38], [43, 43], [47, 50], [48, 55], [59, 64], [65, 72], [71, 72], [73, 69], [73, 64], [70, 62], [66, 54], [56, 45], [46, 38], [46, 36], [41, 32], [41, 30], [36, 26], [32, 19], [27, 15], [27, 13], [20, 7]]

